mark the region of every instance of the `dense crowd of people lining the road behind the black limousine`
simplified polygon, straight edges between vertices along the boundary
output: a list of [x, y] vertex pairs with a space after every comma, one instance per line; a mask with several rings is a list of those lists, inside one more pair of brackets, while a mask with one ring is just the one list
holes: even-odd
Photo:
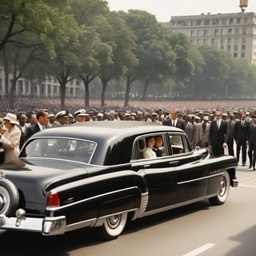
[[[39, 102], [38, 102], [39, 103]], [[27, 106], [26, 104], [24, 106]], [[41, 106], [38, 104], [38, 106]], [[76, 106], [76, 105], [74, 105]], [[18, 158], [18, 154], [31, 135], [45, 128], [63, 126], [74, 122], [94, 121], [144, 121], [156, 122], [165, 126], [176, 126], [186, 132], [190, 145], [207, 147], [217, 156], [228, 154], [240, 158], [242, 166], [246, 166], [247, 154], [249, 168], [255, 170], [256, 160], [256, 111], [251, 108], [215, 110], [182, 109], [172, 110], [161, 108], [122, 108], [105, 107], [90, 109], [57, 110], [51, 108], [34, 108], [34, 111], [15, 109], [0, 113], [0, 146], [4, 150], [2, 162]], [[156, 138], [150, 138], [154, 146]], [[235, 151], [234, 152], [234, 148]], [[227, 151], [225, 151], [227, 150]], [[149, 154], [151, 152], [148, 152]]]

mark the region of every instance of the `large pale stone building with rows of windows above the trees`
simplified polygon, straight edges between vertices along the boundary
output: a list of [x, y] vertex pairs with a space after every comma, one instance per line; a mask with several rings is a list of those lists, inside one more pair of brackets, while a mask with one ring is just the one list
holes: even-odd
[[217, 46], [229, 51], [234, 58], [245, 58], [256, 64], [254, 13], [173, 16], [162, 25], [186, 34], [194, 44]]

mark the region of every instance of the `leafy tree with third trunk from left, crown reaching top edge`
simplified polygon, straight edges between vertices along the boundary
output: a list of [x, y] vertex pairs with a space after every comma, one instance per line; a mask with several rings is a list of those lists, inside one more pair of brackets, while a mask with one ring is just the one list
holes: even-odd
[[80, 44], [84, 50], [80, 54], [82, 66], [79, 76], [85, 87], [85, 106], [89, 106], [90, 82], [98, 76], [101, 63], [112, 63], [112, 48], [105, 40], [107, 31], [111, 29], [107, 21], [110, 10], [102, 0], [74, 0], [71, 12], [82, 29]]

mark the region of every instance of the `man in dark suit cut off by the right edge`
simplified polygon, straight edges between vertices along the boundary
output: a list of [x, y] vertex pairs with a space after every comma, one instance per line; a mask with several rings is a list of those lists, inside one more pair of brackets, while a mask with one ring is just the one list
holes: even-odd
[[248, 156], [250, 159], [250, 166], [254, 167], [255, 170], [255, 161], [256, 161], [256, 115], [252, 116], [253, 121], [250, 124], [246, 136], [246, 144], [249, 144]]

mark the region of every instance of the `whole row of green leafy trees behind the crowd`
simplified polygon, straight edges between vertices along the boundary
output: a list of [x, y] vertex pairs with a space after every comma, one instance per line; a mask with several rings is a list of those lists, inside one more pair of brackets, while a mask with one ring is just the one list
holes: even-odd
[[110, 11], [102, 0], [2, 0], [0, 22], [0, 64], [10, 107], [22, 77], [57, 78], [62, 108], [66, 84], [74, 79], [83, 85], [85, 106], [91, 88], [100, 92], [102, 106], [106, 92], [114, 90], [124, 106], [131, 94], [142, 100], [254, 95], [254, 65], [214, 46], [192, 45], [143, 10]]

